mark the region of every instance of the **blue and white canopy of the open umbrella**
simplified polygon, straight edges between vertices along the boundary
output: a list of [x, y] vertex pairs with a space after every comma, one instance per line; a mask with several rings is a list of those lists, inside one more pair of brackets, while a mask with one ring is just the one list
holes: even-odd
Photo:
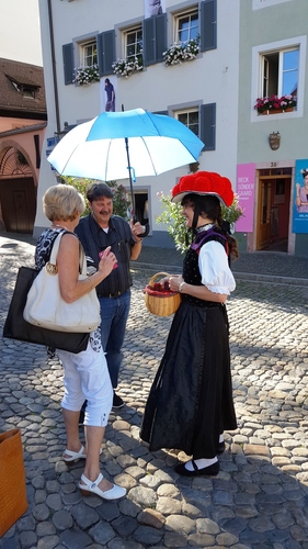
[[178, 120], [134, 109], [103, 112], [76, 126], [48, 161], [62, 176], [112, 181], [130, 179], [130, 171], [135, 179], [195, 163], [203, 147]]

